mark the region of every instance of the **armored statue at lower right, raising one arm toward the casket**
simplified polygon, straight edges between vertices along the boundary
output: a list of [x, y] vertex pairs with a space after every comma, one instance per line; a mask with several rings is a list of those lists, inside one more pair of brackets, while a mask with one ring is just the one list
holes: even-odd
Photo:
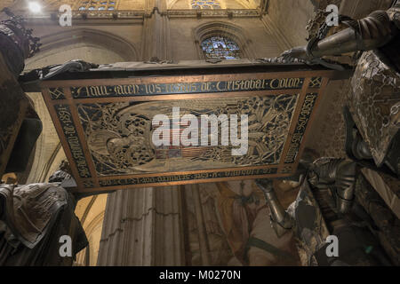
[[[297, 181], [296, 201], [284, 209], [272, 180], [258, 179], [278, 237], [293, 232], [303, 265], [398, 265], [400, 224], [356, 162], [321, 158]], [[327, 254], [335, 236], [338, 255]]]

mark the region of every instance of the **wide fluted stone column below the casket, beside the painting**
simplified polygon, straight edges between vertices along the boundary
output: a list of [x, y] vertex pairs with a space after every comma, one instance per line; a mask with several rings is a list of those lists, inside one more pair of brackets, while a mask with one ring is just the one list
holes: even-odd
[[184, 265], [177, 186], [108, 194], [98, 265]]

